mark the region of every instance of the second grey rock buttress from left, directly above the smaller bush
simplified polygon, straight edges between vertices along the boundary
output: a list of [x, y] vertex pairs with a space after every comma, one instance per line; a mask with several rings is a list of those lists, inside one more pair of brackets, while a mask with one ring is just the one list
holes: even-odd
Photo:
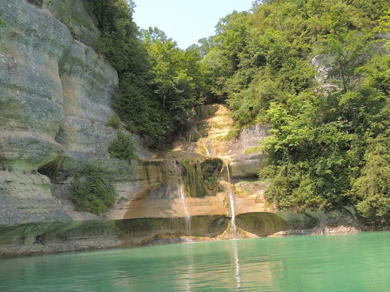
[[107, 153], [115, 131], [105, 126], [118, 76], [94, 50], [74, 40], [59, 65], [65, 120], [57, 141], [67, 150]]

